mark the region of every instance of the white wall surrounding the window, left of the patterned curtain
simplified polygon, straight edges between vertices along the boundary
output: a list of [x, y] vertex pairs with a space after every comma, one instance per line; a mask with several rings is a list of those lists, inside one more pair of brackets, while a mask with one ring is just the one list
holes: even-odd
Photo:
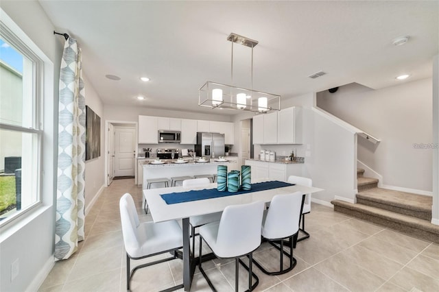
[[[37, 1], [2, 0], [0, 7], [54, 63], [51, 72], [54, 77], [45, 80], [52, 89], [45, 93], [50, 108], [50, 113], [45, 115], [45, 130], [50, 131], [58, 125], [58, 116], [52, 119], [51, 114], [58, 112], [58, 82], [53, 80], [59, 80], [62, 43], [54, 36], [54, 26]], [[3, 19], [3, 15], [1, 17]], [[0, 291], [36, 291], [53, 264], [57, 142], [56, 130], [54, 136], [45, 137], [50, 147], [43, 149], [47, 167], [43, 178], [43, 206], [0, 232]], [[11, 282], [11, 263], [16, 258], [19, 258], [19, 276]]]

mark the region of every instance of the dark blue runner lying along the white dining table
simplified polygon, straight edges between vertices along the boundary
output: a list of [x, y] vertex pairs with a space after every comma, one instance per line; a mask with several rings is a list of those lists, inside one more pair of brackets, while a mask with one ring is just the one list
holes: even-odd
[[170, 205], [170, 204], [198, 201], [200, 199], [213, 199], [215, 197], [226, 197], [228, 195], [241, 195], [245, 193], [266, 191], [272, 188], [283, 188], [285, 186], [294, 186], [294, 184], [289, 184], [287, 182], [279, 182], [278, 180], [274, 180], [271, 182], [258, 182], [256, 184], [252, 184], [252, 188], [248, 191], [241, 190], [235, 193], [230, 193], [228, 191], [219, 192], [216, 188], [204, 188], [203, 190], [197, 190], [197, 191], [163, 194], [161, 195], [161, 197], [162, 199], [165, 200], [166, 204]]

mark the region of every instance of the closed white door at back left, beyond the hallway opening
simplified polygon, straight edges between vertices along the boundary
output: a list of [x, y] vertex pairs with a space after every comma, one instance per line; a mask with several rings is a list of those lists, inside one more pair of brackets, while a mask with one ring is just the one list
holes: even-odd
[[115, 176], [134, 176], [135, 134], [135, 127], [115, 127]]

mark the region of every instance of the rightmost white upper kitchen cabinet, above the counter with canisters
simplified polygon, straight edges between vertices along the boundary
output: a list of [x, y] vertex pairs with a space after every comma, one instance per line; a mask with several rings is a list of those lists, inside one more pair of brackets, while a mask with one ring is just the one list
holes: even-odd
[[277, 143], [301, 144], [302, 143], [302, 111], [293, 106], [277, 113]]

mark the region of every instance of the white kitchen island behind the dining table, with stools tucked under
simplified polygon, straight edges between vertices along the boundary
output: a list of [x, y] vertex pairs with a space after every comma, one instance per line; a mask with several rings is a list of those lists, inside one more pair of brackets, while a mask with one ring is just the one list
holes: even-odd
[[[168, 178], [169, 185], [172, 177], [183, 175], [200, 175], [200, 174], [215, 174], [217, 173], [218, 165], [227, 165], [228, 170], [235, 167], [236, 160], [215, 161], [211, 162], [195, 162], [187, 160], [185, 163], [177, 163], [177, 160], [163, 160], [163, 164], [152, 164], [152, 161], [144, 161], [143, 163], [143, 184], [142, 188], [147, 186], [147, 180], [152, 178]], [[233, 166], [232, 166], [233, 165]]]

